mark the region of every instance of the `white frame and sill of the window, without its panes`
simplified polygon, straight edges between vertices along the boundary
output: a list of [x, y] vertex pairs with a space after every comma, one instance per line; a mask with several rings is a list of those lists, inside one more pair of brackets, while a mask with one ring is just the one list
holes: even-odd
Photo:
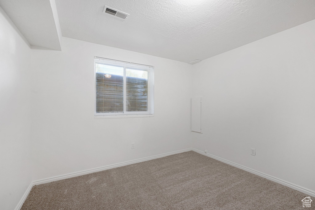
[[[100, 57], [94, 57], [96, 59], [100, 59], [100, 60], [112, 60], [112, 59], [106, 59], [106, 58], [100, 58]], [[129, 64], [135, 64], [135, 63], [131, 63], [131, 62], [125, 62], [125, 61], [120, 61], [120, 60], [112, 60], [112, 61], [117, 61], [117, 65], [115, 64], [115, 66], [119, 66], [119, 67], [123, 67], [123, 112], [108, 112], [108, 113], [96, 113], [96, 90], [94, 87], [94, 118], [95, 119], [106, 119], [106, 118], [134, 118], [134, 117], [153, 117], [154, 114], [149, 114], [149, 111], [126, 111], [126, 106], [127, 106], [127, 79], [126, 79], [126, 69], [133, 69], [133, 70], [139, 70], [136, 68], [126, 68], [125, 66], [120, 66], [119, 62], [121, 63], [129, 63]], [[142, 64], [135, 64], [135, 65], [142, 65]], [[144, 66], [148, 66], [148, 65], [144, 65]], [[154, 69], [154, 66], [150, 66]], [[142, 70], [141, 71], [146, 71], [146, 70]], [[154, 93], [154, 72], [153, 72], [153, 78], [151, 74], [149, 74], [148, 72], [148, 87], [150, 87], [151, 85], [153, 85], [153, 93]], [[153, 81], [153, 84], [151, 84], [151, 82], [149, 81]], [[94, 60], [94, 82], [96, 82], [96, 70], [95, 70], [95, 60]], [[94, 85], [95, 86], [95, 85]], [[149, 91], [150, 88], [148, 88]], [[151, 106], [152, 100], [151, 97], [154, 97], [154, 95], [148, 94], [148, 109], [149, 106]], [[153, 107], [154, 107], [154, 98], [153, 98]]]

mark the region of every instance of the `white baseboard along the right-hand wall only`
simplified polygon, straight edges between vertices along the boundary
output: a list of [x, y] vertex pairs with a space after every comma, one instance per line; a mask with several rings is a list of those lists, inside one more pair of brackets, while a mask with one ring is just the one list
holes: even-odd
[[235, 162], [232, 162], [232, 161], [223, 159], [223, 158], [221, 158], [221, 157], [218, 157], [218, 156], [215, 156], [215, 155], [211, 155], [211, 154], [209, 154], [209, 153], [204, 153], [204, 152], [201, 151], [201, 150], [192, 149], [192, 151], [195, 151], [195, 152], [197, 152], [197, 153], [199, 153], [199, 154], [201, 154], [201, 155], [204, 155], [204, 156], [211, 157], [211, 158], [213, 158], [213, 159], [215, 159], [215, 160], [218, 160], [218, 161], [227, 163], [227, 164], [229, 164], [229, 165], [231, 165], [231, 166], [234, 166], [234, 167], [243, 169], [244, 171], [248, 171], [248, 172], [250, 172], [250, 173], [256, 174], [256, 175], [258, 175], [258, 176], [261, 176], [261, 177], [263, 177], [263, 178], [269, 179], [269, 180], [271, 180], [271, 181], [277, 182], [277, 183], [279, 183], [279, 184], [282, 184], [282, 185], [287, 186], [287, 187], [289, 187], [289, 188], [292, 188], [292, 189], [294, 189], [294, 190], [298, 190], [298, 191], [300, 191], [300, 192], [302, 192], [302, 193], [305, 193], [306, 195], [315, 197], [315, 191], [313, 191], [313, 190], [309, 190], [309, 189], [304, 188], [304, 187], [301, 187], [301, 186], [299, 186], [299, 185], [296, 185], [296, 184], [287, 182], [287, 181], [285, 181], [285, 180], [283, 180], [283, 179], [279, 179], [279, 178], [277, 178], [277, 177], [268, 175], [268, 174], [266, 174], [266, 173], [262, 173], [262, 172], [260, 172], [260, 171], [255, 170], [255, 169], [252, 169], [252, 168], [249, 168], [249, 167], [246, 167], [246, 166], [242, 166], [242, 165], [240, 165], [240, 164], [238, 164], [238, 163], [235, 163]]

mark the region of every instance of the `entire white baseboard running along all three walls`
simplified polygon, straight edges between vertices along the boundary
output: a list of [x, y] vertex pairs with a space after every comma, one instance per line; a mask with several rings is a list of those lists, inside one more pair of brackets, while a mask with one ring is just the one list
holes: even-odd
[[53, 181], [58, 181], [58, 180], [61, 180], [61, 179], [68, 179], [68, 178], [72, 178], [72, 177], [76, 177], [76, 176], [85, 175], [85, 174], [88, 174], [88, 173], [94, 173], [94, 172], [103, 171], [103, 170], [107, 170], [107, 169], [111, 169], [111, 168], [126, 166], [126, 165], [130, 165], [130, 164], [138, 163], [138, 162], [144, 162], [144, 161], [153, 160], [153, 159], [157, 159], [157, 158], [160, 158], [160, 157], [165, 157], [165, 156], [169, 156], [169, 155], [175, 155], [175, 154], [178, 154], [178, 153], [188, 152], [188, 151], [195, 151], [195, 152], [197, 152], [199, 154], [211, 157], [211, 158], [213, 158], [215, 160], [227, 163], [227, 164], [232, 165], [234, 167], [238, 167], [238, 168], [243, 169], [245, 171], [248, 171], [250, 173], [256, 174], [256, 175], [261, 176], [263, 178], [269, 179], [271, 181], [277, 182], [279, 184], [288, 186], [288, 187], [290, 187], [290, 188], [292, 188], [294, 190], [298, 190], [298, 191], [303, 192], [303, 193], [305, 193], [307, 195], [315, 197], [315, 192], [312, 191], [312, 190], [309, 190], [309, 189], [306, 189], [306, 188], [301, 187], [299, 185], [296, 185], [296, 184], [284, 181], [282, 179], [278, 179], [278, 178], [270, 176], [270, 175], [268, 175], [266, 173], [262, 173], [262, 172], [256, 171], [256, 170], [251, 169], [249, 167], [242, 166], [242, 165], [240, 165], [238, 163], [234, 163], [234, 162], [225, 160], [225, 159], [223, 159], [221, 157], [210, 155], [209, 153], [204, 153], [203, 151], [200, 151], [200, 150], [197, 150], [197, 149], [189, 148], [189, 149], [186, 149], [186, 150], [178, 150], [178, 151], [174, 151], [174, 152], [168, 152], [168, 153], [164, 153], [164, 154], [161, 154], [161, 155], [149, 156], [149, 157], [140, 158], [140, 159], [136, 159], [136, 160], [116, 163], [116, 164], [107, 165], [107, 166], [103, 166], [103, 167], [97, 167], [97, 168], [92, 168], [92, 169], [88, 169], [88, 170], [78, 171], [78, 172], [74, 172], [74, 173], [67, 173], [67, 174], [60, 175], [60, 176], [54, 176], [54, 177], [50, 177], [50, 178], [46, 178], [46, 179], [39, 179], [39, 180], [33, 181], [30, 184], [30, 186], [27, 188], [26, 192], [24, 193], [24, 195], [21, 198], [21, 200], [18, 203], [18, 205], [15, 207], [15, 210], [20, 210], [20, 208], [22, 207], [26, 197], [28, 196], [28, 194], [31, 191], [31, 188], [34, 185], [45, 184], [45, 183], [49, 183], [49, 182], [53, 182]]

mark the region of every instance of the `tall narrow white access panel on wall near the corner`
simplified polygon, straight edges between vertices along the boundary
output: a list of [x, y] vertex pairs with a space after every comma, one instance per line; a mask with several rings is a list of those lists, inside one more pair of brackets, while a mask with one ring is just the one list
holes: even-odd
[[201, 97], [192, 98], [192, 131], [201, 132]]

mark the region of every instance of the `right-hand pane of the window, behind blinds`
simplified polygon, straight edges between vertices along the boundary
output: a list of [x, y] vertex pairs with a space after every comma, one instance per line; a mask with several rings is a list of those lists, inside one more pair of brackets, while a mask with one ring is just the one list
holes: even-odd
[[148, 111], [148, 72], [126, 69], [126, 111]]

